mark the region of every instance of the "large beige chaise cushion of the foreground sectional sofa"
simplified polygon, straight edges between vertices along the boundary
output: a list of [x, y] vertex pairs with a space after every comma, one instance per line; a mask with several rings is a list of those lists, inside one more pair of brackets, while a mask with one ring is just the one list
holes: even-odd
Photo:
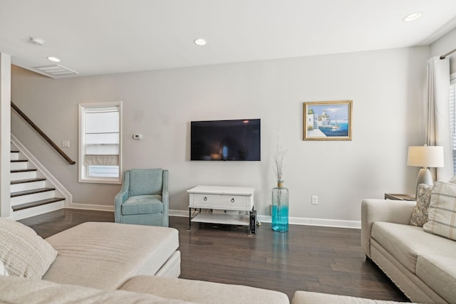
[[117, 289], [138, 274], [154, 275], [179, 246], [176, 229], [95, 222], [46, 241], [58, 255], [43, 279], [98, 289]]

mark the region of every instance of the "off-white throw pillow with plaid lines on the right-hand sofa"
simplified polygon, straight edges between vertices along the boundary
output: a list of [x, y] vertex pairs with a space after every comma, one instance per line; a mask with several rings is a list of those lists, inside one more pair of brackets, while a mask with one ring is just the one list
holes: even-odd
[[424, 231], [456, 241], [456, 184], [434, 183], [427, 219]]

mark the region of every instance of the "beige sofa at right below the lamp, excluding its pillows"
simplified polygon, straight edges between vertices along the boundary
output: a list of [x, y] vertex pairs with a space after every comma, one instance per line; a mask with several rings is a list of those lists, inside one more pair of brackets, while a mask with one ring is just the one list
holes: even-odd
[[415, 201], [365, 199], [361, 246], [418, 303], [456, 303], [456, 241], [411, 226]]

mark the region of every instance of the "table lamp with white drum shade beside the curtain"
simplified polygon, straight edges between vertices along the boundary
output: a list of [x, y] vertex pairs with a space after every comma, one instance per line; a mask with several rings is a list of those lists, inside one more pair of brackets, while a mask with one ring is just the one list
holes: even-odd
[[419, 184], [432, 186], [434, 182], [428, 168], [443, 167], [443, 147], [427, 145], [408, 147], [407, 165], [422, 167], [416, 179], [417, 190]]

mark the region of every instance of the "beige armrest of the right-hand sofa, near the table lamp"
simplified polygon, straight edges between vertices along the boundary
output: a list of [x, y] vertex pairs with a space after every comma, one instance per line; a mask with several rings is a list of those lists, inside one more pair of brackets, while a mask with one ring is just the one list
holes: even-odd
[[395, 201], [390, 199], [363, 199], [361, 202], [361, 247], [371, 257], [370, 240], [372, 224], [387, 221], [408, 225], [416, 201]]

